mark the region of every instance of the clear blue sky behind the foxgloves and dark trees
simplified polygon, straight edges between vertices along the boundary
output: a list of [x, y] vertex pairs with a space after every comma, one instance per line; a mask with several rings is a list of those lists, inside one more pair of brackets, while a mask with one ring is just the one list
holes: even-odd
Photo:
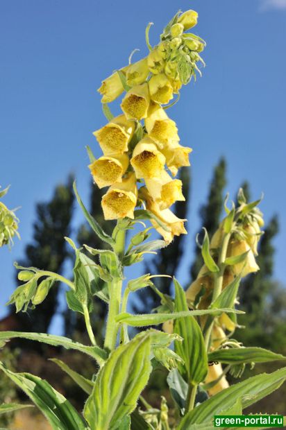
[[[168, 112], [182, 143], [194, 148], [190, 252], [178, 277], [184, 282], [198, 209], [224, 155], [230, 195], [249, 180], [254, 198], [264, 192], [266, 220], [279, 215], [275, 275], [285, 282], [285, 0], [2, 0], [0, 184], [12, 185], [5, 203], [22, 207], [22, 241], [0, 250], [0, 315], [14, 289], [12, 261], [31, 241], [35, 203], [49, 200], [71, 171], [87, 200], [85, 145], [99, 155], [92, 131], [106, 121], [96, 88], [133, 49], [140, 49], [135, 58], [146, 55], [146, 24], [155, 23], [155, 44], [178, 8], [199, 12], [195, 32], [208, 42], [203, 78], [184, 87]], [[82, 220], [76, 212], [75, 224]]]

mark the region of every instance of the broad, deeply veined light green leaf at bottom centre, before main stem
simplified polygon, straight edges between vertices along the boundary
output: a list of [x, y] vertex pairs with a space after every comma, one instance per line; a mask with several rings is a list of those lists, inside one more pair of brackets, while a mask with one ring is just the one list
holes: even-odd
[[131, 413], [151, 373], [151, 336], [140, 333], [113, 351], [99, 371], [84, 415], [92, 429], [115, 430]]

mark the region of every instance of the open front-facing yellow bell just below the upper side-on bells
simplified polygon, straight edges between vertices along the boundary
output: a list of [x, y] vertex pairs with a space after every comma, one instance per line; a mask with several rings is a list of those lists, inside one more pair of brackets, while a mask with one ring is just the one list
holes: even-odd
[[140, 119], [146, 118], [150, 104], [148, 84], [137, 85], [131, 88], [121, 103], [121, 109], [126, 115], [127, 119]]

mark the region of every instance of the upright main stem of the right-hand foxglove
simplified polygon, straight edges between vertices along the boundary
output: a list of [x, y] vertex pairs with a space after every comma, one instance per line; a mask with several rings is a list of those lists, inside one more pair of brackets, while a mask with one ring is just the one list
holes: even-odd
[[[222, 290], [222, 285], [224, 282], [224, 261], [226, 259], [226, 252], [228, 250], [228, 242], [230, 240], [230, 233], [225, 233], [221, 243], [221, 249], [219, 250], [219, 258], [217, 261], [217, 266], [219, 266], [219, 272], [214, 273], [214, 291], [212, 293], [212, 302], [219, 297], [219, 294]], [[212, 320], [210, 326], [208, 327], [207, 332], [205, 333], [205, 348], [208, 352], [208, 348], [210, 346], [210, 336], [212, 334], [212, 326], [214, 324], [214, 320]]]

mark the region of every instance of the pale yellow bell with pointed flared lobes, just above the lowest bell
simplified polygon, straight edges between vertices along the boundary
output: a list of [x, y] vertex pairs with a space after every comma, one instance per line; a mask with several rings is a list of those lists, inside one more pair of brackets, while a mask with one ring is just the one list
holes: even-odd
[[171, 176], [163, 170], [158, 180], [145, 179], [150, 196], [158, 203], [160, 209], [167, 209], [176, 201], [185, 201], [182, 193], [182, 181], [172, 180]]

